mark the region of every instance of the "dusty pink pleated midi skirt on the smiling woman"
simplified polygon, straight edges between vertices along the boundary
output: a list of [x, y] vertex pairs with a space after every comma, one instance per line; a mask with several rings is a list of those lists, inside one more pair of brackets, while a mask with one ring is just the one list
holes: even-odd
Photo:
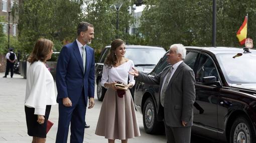
[[108, 88], [100, 109], [95, 134], [108, 139], [127, 139], [140, 136], [135, 106], [130, 90], [122, 98]]

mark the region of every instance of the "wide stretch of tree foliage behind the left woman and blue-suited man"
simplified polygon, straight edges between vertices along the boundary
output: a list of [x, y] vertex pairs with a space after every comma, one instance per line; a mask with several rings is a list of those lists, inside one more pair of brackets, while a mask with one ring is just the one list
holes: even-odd
[[[87, 21], [94, 25], [95, 39], [91, 46], [98, 53], [101, 48], [115, 39], [116, 10], [115, 0], [24, 0], [15, 11], [19, 16], [19, 40], [25, 52], [31, 52], [35, 41], [45, 37], [54, 41], [55, 51], [59, 51], [64, 42], [71, 42], [76, 38], [76, 29], [80, 21]], [[125, 31], [133, 16], [127, 7], [133, 5], [124, 0], [119, 10], [118, 35], [123, 39], [130, 39]], [[98, 49], [98, 50], [97, 50]]]

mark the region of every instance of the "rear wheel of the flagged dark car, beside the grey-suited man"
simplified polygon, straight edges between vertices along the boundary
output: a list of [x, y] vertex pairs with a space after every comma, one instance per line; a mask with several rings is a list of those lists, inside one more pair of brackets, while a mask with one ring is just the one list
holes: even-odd
[[163, 132], [160, 130], [164, 128], [163, 122], [157, 121], [157, 109], [151, 97], [147, 98], [143, 107], [143, 125], [147, 133], [156, 134]]

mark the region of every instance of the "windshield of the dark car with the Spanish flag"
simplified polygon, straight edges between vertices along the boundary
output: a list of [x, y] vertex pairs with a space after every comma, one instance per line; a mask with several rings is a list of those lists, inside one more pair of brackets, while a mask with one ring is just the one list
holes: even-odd
[[222, 53], [216, 57], [227, 82], [256, 83], [256, 53]]

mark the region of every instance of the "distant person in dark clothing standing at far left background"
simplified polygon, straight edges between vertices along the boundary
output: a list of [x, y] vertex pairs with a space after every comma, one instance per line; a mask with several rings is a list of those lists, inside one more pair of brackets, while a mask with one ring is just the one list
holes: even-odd
[[7, 77], [9, 70], [11, 69], [11, 77], [14, 75], [14, 62], [17, 59], [16, 54], [13, 52], [13, 48], [9, 48], [9, 52], [6, 54], [6, 74], [3, 77]]

